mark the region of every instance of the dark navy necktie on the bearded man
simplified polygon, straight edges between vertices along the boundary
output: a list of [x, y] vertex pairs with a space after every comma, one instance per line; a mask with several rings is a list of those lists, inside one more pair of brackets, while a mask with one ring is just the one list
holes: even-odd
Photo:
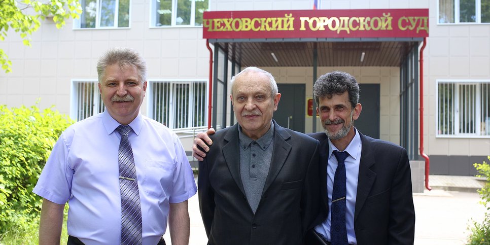
[[347, 229], [345, 228], [345, 158], [349, 156], [347, 152], [334, 151], [338, 165], [335, 170], [332, 192], [332, 217], [330, 223], [330, 239], [334, 245], [347, 244]]

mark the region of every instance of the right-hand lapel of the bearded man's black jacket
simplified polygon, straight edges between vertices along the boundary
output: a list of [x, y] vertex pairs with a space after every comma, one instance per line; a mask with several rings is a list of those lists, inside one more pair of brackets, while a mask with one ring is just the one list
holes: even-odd
[[354, 222], [356, 222], [359, 212], [361, 212], [362, 206], [364, 205], [364, 202], [371, 191], [374, 180], [376, 179], [376, 173], [371, 170], [371, 166], [374, 165], [374, 150], [372, 149], [372, 146], [366, 136], [360, 132], [359, 135], [361, 136], [362, 150], [361, 161], [359, 164], [359, 178], [357, 183]]

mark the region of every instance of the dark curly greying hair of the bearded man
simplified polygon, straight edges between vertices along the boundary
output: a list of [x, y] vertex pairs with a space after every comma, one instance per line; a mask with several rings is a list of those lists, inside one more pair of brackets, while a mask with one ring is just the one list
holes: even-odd
[[359, 84], [351, 74], [334, 71], [320, 76], [313, 86], [313, 95], [317, 105], [320, 104], [320, 97], [331, 98], [333, 94], [349, 94], [349, 101], [352, 108], [359, 103]]

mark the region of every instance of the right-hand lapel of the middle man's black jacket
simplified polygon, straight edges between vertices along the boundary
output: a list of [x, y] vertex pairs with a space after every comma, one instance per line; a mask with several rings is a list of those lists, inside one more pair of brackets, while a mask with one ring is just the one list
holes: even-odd
[[274, 149], [272, 151], [272, 158], [270, 160], [269, 174], [265, 181], [264, 190], [265, 193], [269, 186], [272, 184], [277, 174], [283, 168], [286, 159], [291, 152], [291, 145], [286, 141], [291, 138], [291, 135], [281, 126], [279, 126], [274, 120]]

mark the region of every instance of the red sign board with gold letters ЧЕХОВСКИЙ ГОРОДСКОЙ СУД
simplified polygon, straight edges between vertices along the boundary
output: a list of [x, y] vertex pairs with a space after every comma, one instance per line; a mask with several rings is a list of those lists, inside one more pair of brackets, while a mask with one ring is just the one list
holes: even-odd
[[423, 38], [428, 9], [204, 12], [204, 39]]

